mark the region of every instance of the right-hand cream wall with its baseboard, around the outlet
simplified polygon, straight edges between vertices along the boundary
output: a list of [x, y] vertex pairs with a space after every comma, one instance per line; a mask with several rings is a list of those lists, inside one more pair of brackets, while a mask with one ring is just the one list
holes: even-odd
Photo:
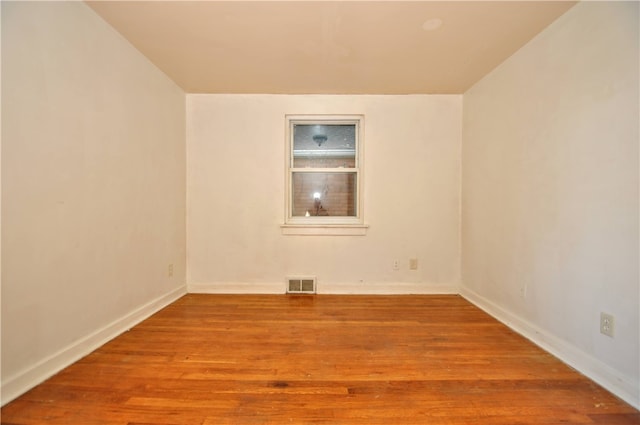
[[636, 406], [638, 39], [570, 9], [465, 93], [462, 160], [463, 294]]

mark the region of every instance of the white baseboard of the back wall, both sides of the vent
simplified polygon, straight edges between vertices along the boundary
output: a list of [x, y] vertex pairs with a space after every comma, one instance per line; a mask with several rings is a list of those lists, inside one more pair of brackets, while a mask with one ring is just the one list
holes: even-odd
[[[336, 295], [411, 295], [411, 294], [457, 294], [455, 285], [427, 283], [322, 283], [318, 282], [318, 294]], [[190, 283], [187, 287], [190, 294], [284, 294], [286, 286], [282, 282], [216, 282]]]

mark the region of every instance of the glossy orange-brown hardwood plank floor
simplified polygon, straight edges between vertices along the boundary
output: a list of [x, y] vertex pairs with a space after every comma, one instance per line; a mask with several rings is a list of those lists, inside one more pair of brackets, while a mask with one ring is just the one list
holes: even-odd
[[186, 295], [1, 414], [6, 425], [640, 424], [453, 295]]

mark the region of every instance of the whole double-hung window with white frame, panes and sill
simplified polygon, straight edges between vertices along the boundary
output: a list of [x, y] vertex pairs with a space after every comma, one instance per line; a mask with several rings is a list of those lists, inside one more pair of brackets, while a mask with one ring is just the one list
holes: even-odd
[[287, 116], [287, 234], [364, 234], [361, 115]]

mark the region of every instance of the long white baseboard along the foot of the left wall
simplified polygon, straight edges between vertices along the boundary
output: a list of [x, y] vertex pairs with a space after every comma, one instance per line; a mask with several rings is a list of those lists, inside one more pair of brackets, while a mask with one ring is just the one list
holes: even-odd
[[131, 329], [147, 317], [171, 304], [187, 293], [182, 285], [85, 336], [57, 353], [36, 363], [34, 366], [9, 377], [2, 382], [2, 405], [24, 394], [44, 382], [65, 367], [80, 360], [121, 333]]

